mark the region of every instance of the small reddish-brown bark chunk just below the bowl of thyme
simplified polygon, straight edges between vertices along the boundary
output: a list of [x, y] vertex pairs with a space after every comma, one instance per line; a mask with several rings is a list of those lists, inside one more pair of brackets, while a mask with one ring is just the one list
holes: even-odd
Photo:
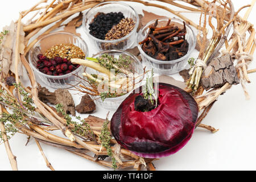
[[76, 106], [76, 111], [81, 114], [92, 113], [95, 109], [96, 105], [88, 94], [82, 96], [81, 103]]

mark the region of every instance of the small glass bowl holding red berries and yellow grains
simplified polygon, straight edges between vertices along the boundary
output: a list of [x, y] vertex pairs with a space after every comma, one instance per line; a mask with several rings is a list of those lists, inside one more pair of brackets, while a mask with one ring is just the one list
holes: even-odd
[[[47, 44], [44, 43], [44, 46], [42, 47], [42, 42], [47, 42]], [[40, 80], [47, 86], [56, 89], [71, 88], [80, 82], [80, 80], [77, 79], [77, 76], [82, 76], [82, 67], [61, 76], [46, 75], [36, 68], [36, 61], [38, 60], [37, 55], [44, 53], [47, 49], [57, 44], [73, 44], [82, 49], [82, 51], [85, 53], [85, 57], [88, 56], [88, 47], [84, 40], [79, 38], [79, 36], [73, 35], [69, 32], [54, 32], [39, 39], [38, 42], [36, 42], [35, 45], [30, 49], [28, 55], [30, 66], [34, 70], [35, 75], [38, 76]]]

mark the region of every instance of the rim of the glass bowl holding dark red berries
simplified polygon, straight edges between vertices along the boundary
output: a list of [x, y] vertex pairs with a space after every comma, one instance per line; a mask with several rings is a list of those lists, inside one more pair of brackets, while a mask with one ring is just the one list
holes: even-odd
[[45, 39], [45, 38], [48, 38], [49, 36], [52, 36], [52, 35], [57, 35], [57, 34], [66, 34], [66, 35], [71, 35], [72, 37], [76, 38], [76, 39], [79, 39], [80, 42], [82, 42], [82, 44], [85, 46], [85, 57], [88, 56], [88, 46], [87, 44], [85, 43], [84, 40], [82, 40], [79, 36], [75, 35], [75, 34], [72, 34], [70, 32], [52, 32], [50, 34], [47, 34], [46, 36], [43, 36], [42, 38], [40, 38], [36, 43], [35, 45], [30, 49], [30, 51], [28, 52], [28, 60], [29, 60], [29, 63], [31, 65], [31, 67], [34, 69], [34, 71], [36, 71], [36, 73], [39, 73], [40, 76], [44, 76], [44, 77], [47, 77], [47, 78], [58, 78], [58, 79], [61, 79], [61, 78], [67, 78], [71, 75], [74, 74], [74, 72], [79, 72], [81, 71], [82, 69], [82, 66], [80, 66], [79, 68], [75, 69], [74, 71], [66, 74], [66, 75], [61, 75], [61, 76], [53, 76], [53, 75], [47, 75], [45, 73], [42, 73], [40, 72], [35, 66], [34, 64], [32, 64], [32, 60], [31, 60], [31, 56], [32, 56], [32, 49], [34, 49], [39, 43], [41, 40]]

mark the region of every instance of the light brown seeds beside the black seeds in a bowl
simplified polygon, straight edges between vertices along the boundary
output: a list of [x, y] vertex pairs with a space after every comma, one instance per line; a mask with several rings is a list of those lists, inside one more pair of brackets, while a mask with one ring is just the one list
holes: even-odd
[[121, 21], [109, 30], [105, 36], [105, 40], [116, 40], [121, 39], [124, 36], [130, 34], [135, 27], [135, 22], [132, 18], [123, 18]]

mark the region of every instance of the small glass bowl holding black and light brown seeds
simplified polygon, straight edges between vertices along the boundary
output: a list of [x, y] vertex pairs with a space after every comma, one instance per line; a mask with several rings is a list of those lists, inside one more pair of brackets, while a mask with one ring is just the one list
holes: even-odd
[[[116, 40], [101, 40], [93, 35], [90, 35], [89, 30], [89, 23], [92, 22], [95, 15], [99, 12], [102, 13], [111, 13], [111, 12], [119, 12], [121, 11], [123, 13], [123, 16], [125, 18], [132, 18], [135, 22], [135, 27], [133, 31], [130, 32], [130, 34], [124, 36], [121, 39]], [[133, 9], [133, 7], [126, 5], [125, 3], [121, 2], [103, 2], [98, 4], [97, 6], [94, 6], [92, 9], [90, 9], [83, 17], [82, 20], [82, 28], [86, 35], [88, 35], [89, 39], [92, 43], [96, 46], [98, 51], [105, 51], [110, 49], [117, 49], [117, 50], [126, 50], [129, 49], [131, 46], [133, 46], [133, 43], [136, 42], [137, 39], [137, 28], [139, 26], [139, 15], [137, 12]]]

